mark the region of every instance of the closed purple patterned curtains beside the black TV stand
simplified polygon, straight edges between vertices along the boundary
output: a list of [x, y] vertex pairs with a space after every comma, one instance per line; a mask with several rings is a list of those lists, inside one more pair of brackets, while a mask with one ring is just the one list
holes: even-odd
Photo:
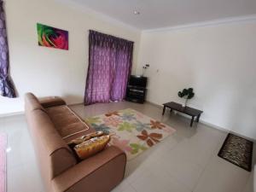
[[84, 104], [121, 101], [131, 73], [133, 42], [90, 31]]

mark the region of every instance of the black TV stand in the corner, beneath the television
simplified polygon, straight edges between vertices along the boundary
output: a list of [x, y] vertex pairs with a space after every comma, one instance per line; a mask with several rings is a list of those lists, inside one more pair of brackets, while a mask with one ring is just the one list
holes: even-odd
[[127, 86], [125, 100], [129, 102], [143, 103], [145, 102], [147, 89], [145, 87]]

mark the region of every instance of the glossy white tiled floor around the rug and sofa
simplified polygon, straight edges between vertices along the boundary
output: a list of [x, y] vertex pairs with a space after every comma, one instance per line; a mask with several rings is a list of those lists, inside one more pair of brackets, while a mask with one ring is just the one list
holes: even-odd
[[[253, 172], [218, 158], [227, 133], [151, 104], [119, 102], [72, 106], [83, 119], [96, 114], [134, 108], [176, 129], [162, 143], [127, 163], [125, 179], [113, 192], [253, 192]], [[9, 138], [8, 192], [44, 192], [32, 142], [23, 115], [0, 119], [0, 132]], [[253, 162], [254, 162], [253, 158]]]

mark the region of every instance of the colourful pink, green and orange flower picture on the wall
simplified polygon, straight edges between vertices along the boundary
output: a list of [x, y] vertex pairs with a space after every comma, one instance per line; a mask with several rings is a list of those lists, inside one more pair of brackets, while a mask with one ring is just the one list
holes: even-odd
[[68, 50], [68, 32], [38, 23], [38, 44]]

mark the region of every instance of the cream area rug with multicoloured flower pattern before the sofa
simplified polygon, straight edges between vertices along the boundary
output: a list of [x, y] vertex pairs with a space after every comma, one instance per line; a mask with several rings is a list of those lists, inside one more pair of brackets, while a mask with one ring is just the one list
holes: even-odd
[[85, 119], [96, 131], [111, 135], [110, 144], [125, 151], [131, 160], [172, 135], [175, 130], [143, 113], [127, 108]]

